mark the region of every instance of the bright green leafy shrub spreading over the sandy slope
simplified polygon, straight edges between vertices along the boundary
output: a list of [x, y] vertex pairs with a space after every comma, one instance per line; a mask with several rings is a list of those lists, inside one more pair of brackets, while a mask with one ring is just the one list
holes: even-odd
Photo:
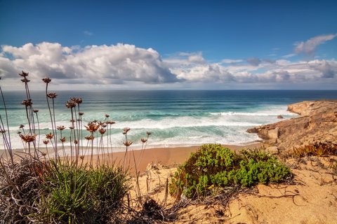
[[206, 196], [214, 187], [245, 186], [281, 182], [290, 176], [290, 169], [271, 155], [258, 150], [234, 153], [218, 144], [201, 146], [183, 163], [170, 183], [175, 197]]

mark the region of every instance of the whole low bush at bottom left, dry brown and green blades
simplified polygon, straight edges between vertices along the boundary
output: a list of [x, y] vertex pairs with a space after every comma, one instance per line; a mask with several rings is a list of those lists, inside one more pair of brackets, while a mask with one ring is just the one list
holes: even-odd
[[0, 219], [5, 223], [114, 223], [129, 190], [125, 171], [24, 158], [1, 162]]

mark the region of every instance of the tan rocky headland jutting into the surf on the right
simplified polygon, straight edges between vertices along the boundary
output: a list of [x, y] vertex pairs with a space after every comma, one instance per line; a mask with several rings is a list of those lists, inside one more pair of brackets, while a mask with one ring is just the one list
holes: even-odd
[[337, 100], [291, 104], [288, 111], [298, 113], [300, 116], [253, 127], [247, 132], [257, 133], [265, 144], [277, 146], [281, 151], [315, 141], [337, 142]]

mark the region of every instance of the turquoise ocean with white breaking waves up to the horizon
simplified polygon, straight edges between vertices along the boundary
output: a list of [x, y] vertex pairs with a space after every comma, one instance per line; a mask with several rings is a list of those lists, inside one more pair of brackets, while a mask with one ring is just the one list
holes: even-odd
[[[31, 92], [34, 109], [39, 109], [41, 145], [45, 134], [51, 132], [50, 116], [44, 92]], [[23, 148], [17, 132], [27, 118], [25, 92], [4, 92], [8, 110], [13, 148]], [[124, 148], [124, 127], [130, 127], [128, 139], [133, 148], [141, 148], [140, 139], [152, 132], [147, 148], [193, 146], [200, 144], [251, 144], [258, 141], [249, 134], [250, 127], [275, 123], [277, 116], [296, 117], [286, 111], [288, 104], [304, 100], [337, 99], [336, 90], [105, 90], [60, 91], [55, 98], [56, 125], [64, 125], [70, 134], [70, 109], [65, 103], [70, 97], [81, 97], [83, 123], [114, 120], [109, 140], [114, 150]], [[4, 104], [0, 104], [4, 120]], [[89, 135], [84, 130], [83, 136]], [[105, 137], [106, 138], [106, 137]], [[104, 142], [104, 141], [103, 141]], [[69, 143], [68, 143], [69, 144]], [[4, 144], [0, 144], [4, 149]]]

